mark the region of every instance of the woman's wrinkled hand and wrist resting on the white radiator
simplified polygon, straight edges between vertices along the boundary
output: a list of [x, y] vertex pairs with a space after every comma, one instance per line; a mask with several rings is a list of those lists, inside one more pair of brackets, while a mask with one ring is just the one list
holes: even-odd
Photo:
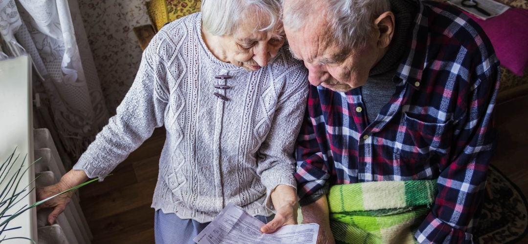
[[[81, 184], [82, 182], [86, 181], [88, 177], [86, 176], [86, 173], [82, 170], [70, 170], [68, 173], [64, 174], [61, 180], [48, 187], [40, 187], [36, 189], [36, 200], [44, 200], [46, 198], [49, 198], [51, 196], [54, 196], [55, 194], [61, 193], [65, 190], [68, 190], [72, 187], [77, 186], [78, 184]], [[71, 201], [71, 198], [73, 196], [74, 191], [69, 191], [63, 194], [60, 194], [59, 196], [56, 196], [48, 201], [45, 201], [44, 203], [37, 206], [37, 210], [43, 209], [43, 208], [53, 208], [53, 211], [48, 216], [48, 224], [53, 225], [57, 217], [60, 213], [66, 209], [66, 206], [68, 206], [68, 203]]]

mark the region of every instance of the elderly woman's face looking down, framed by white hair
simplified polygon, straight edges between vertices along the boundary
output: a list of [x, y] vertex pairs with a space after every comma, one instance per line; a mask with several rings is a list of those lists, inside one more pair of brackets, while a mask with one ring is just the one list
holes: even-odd
[[274, 31], [258, 31], [261, 23], [268, 22], [258, 21], [256, 15], [252, 15], [244, 18], [233, 35], [220, 37], [225, 61], [249, 71], [256, 71], [266, 66], [277, 55], [285, 41], [282, 26], [278, 26]]

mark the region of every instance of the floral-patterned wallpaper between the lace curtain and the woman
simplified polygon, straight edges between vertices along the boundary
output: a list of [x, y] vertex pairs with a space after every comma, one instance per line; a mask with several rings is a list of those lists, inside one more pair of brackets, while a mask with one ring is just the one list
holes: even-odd
[[146, 0], [79, 0], [84, 28], [108, 111], [115, 114], [139, 68], [142, 50], [133, 28], [149, 24]]

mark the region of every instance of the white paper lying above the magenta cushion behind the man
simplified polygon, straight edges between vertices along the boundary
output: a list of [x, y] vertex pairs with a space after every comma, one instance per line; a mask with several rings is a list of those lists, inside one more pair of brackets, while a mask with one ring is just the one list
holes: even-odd
[[447, 2], [484, 20], [502, 14], [510, 8], [493, 0], [451, 0]]

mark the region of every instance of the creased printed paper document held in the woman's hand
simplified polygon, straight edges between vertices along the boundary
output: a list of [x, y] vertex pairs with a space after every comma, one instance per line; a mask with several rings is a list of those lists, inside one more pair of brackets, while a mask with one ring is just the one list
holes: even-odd
[[194, 238], [198, 244], [217, 243], [306, 243], [315, 244], [319, 225], [283, 226], [271, 234], [260, 232], [264, 223], [242, 208], [229, 203], [205, 229]]

